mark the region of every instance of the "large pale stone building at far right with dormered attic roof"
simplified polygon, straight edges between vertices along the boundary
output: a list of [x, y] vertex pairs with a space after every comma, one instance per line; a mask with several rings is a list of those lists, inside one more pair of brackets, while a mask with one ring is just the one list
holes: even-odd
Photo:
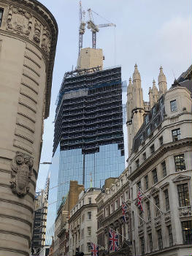
[[[178, 80], [166, 91], [160, 69], [159, 94], [153, 83], [150, 113], [143, 116], [142, 110], [129, 144], [132, 244], [137, 256], [191, 255], [191, 67]], [[143, 212], [137, 206], [138, 188]]]

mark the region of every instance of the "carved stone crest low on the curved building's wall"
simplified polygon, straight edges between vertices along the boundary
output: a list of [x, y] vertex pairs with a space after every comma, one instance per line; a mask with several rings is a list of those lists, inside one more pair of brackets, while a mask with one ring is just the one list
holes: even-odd
[[33, 173], [34, 158], [23, 154], [20, 151], [16, 152], [14, 159], [12, 159], [12, 192], [19, 197], [23, 197], [28, 193], [28, 184]]

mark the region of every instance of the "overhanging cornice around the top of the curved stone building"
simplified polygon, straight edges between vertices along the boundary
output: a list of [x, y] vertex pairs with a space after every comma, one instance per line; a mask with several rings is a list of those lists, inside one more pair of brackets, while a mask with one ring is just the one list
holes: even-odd
[[[9, 29], [7, 30], [7, 28], [4, 29], [3, 26], [1, 26], [1, 29], [0, 29], [0, 31], [4, 31], [6, 34], [9, 33], [14, 35], [15, 37], [20, 37], [20, 38], [23, 37], [23, 39], [25, 39], [26, 42], [27, 41], [30, 43], [32, 42], [32, 44], [35, 47], [41, 50], [42, 56], [44, 56], [45, 62], [46, 62], [47, 78], [46, 78], [46, 92], [45, 92], [45, 118], [47, 118], [49, 116], [49, 111], [50, 111], [50, 94], [51, 94], [52, 79], [53, 79], [53, 66], [54, 66], [55, 50], [56, 50], [57, 39], [58, 39], [57, 22], [53, 17], [53, 15], [51, 14], [51, 12], [47, 10], [47, 8], [37, 0], [4, 0], [2, 2], [3, 2], [3, 5], [7, 4], [7, 6], [9, 7], [8, 12], [4, 13], [4, 15], [6, 15], [7, 17], [4, 18], [3, 16], [2, 21], [6, 20], [6, 23], [8, 24], [8, 22], [10, 22], [10, 20], [12, 19], [12, 13], [11, 13], [12, 11], [10, 11], [10, 8], [12, 6], [18, 7], [28, 12], [29, 16], [32, 15], [32, 18], [34, 18], [34, 20], [30, 20], [30, 22], [28, 23], [30, 32], [31, 32], [31, 27], [34, 28], [36, 26], [36, 19], [37, 19], [38, 21], [40, 21], [40, 24], [37, 24], [37, 26], [40, 25], [43, 27], [41, 31], [41, 37], [43, 37], [43, 35], [46, 37], [50, 33], [50, 45], [48, 46], [49, 49], [47, 52], [47, 45], [45, 45], [45, 48], [44, 48], [42, 45], [39, 45], [38, 43], [36, 44], [36, 42], [33, 42], [30, 38], [28, 38], [24, 34], [20, 35], [17, 32], [14, 33]], [[8, 26], [7, 24], [6, 26]]]

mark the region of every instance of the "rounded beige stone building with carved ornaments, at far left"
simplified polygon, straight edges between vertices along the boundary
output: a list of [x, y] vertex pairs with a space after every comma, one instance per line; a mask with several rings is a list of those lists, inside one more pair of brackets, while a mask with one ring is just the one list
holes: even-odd
[[29, 255], [58, 28], [36, 0], [0, 10], [0, 255]]

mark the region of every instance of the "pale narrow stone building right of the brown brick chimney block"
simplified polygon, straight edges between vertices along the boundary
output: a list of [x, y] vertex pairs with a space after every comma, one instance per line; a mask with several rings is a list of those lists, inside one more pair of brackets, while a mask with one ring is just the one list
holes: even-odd
[[84, 252], [91, 255], [91, 242], [96, 244], [96, 197], [101, 189], [87, 189], [81, 192], [79, 200], [72, 208], [69, 218], [69, 254]]

